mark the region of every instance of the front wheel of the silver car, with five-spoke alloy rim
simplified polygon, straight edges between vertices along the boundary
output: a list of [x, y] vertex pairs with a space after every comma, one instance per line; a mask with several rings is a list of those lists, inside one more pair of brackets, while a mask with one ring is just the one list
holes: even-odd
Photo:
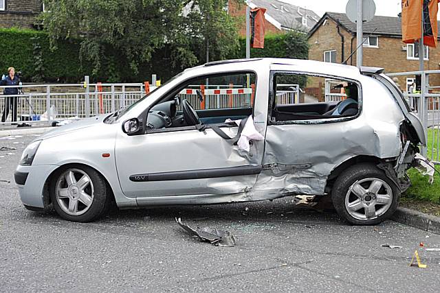
[[58, 215], [74, 222], [90, 222], [109, 207], [107, 186], [90, 167], [63, 169], [52, 178], [50, 196]]

